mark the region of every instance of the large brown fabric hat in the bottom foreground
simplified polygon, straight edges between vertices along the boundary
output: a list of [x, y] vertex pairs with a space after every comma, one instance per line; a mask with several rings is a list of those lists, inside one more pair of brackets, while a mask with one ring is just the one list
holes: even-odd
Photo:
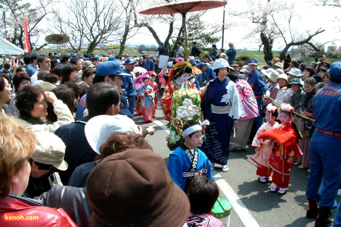
[[103, 159], [89, 174], [93, 227], [181, 227], [189, 200], [150, 150], [128, 150]]

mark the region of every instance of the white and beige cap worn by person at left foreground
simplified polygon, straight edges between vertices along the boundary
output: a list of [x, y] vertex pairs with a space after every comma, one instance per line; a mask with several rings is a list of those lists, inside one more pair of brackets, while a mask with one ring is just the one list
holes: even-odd
[[37, 137], [36, 151], [31, 158], [35, 162], [52, 165], [57, 170], [67, 170], [63, 141], [52, 132], [35, 132], [35, 135]]

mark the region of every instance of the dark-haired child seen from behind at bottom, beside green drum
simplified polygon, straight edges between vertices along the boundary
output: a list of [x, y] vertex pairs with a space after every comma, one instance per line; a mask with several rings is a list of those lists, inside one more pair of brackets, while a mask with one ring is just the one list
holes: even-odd
[[219, 196], [218, 185], [204, 176], [195, 177], [189, 184], [187, 197], [190, 212], [187, 225], [191, 227], [224, 227], [217, 218], [210, 215]]

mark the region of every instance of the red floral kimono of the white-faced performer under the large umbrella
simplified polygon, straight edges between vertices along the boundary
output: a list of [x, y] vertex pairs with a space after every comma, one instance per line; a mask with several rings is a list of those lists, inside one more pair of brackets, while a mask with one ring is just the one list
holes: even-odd
[[173, 97], [173, 92], [180, 89], [180, 88], [192, 88], [196, 89], [195, 86], [190, 81], [185, 81], [182, 85], [180, 85], [176, 80], [172, 80], [169, 83], [167, 83], [167, 86], [165, 88], [165, 92], [161, 98], [161, 107], [163, 110], [163, 113], [165, 114], [164, 118], [168, 121], [170, 121], [170, 115], [171, 115], [171, 100]]

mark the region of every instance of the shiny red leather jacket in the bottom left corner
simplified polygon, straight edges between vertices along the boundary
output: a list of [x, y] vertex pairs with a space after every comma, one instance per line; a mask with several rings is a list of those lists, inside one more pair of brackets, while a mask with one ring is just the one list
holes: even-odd
[[[34, 217], [38, 217], [38, 220], [32, 220]], [[42, 207], [34, 200], [10, 195], [0, 196], [0, 226], [76, 227], [76, 224], [63, 209]]]

